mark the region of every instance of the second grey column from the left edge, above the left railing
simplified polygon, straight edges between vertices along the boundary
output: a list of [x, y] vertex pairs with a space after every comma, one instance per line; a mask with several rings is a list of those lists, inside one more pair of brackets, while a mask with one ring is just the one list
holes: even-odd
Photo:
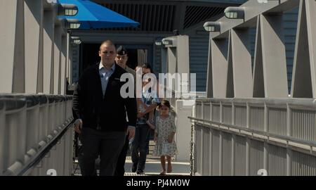
[[25, 0], [25, 92], [37, 92], [39, 70], [42, 68], [41, 30], [42, 1]]

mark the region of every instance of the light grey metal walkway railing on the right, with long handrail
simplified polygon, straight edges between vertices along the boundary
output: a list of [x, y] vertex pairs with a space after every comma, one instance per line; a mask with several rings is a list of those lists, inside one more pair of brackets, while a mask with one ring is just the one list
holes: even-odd
[[198, 99], [190, 119], [195, 175], [316, 175], [315, 99]]

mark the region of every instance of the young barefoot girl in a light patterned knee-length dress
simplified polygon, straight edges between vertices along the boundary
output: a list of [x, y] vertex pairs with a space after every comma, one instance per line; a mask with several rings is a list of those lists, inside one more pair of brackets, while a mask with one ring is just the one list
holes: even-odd
[[[171, 157], [178, 153], [176, 142], [174, 141], [174, 134], [176, 134], [176, 125], [174, 117], [169, 115], [170, 110], [169, 101], [163, 100], [159, 105], [159, 116], [156, 118], [156, 127], [150, 122], [154, 129], [154, 141], [156, 146], [154, 147], [154, 156], [160, 156], [160, 162], [162, 164], [162, 172], [160, 175], [166, 175], [166, 172], [172, 172]], [[165, 159], [166, 157], [166, 159]], [[168, 167], [166, 170], [166, 160], [168, 161]]]

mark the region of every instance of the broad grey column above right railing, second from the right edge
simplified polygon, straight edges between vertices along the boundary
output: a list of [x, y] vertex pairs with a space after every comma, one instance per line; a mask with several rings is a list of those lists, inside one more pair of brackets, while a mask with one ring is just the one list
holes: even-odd
[[[262, 56], [263, 84], [266, 98], [287, 98], [287, 65], [282, 15], [259, 15], [256, 61]], [[261, 48], [260, 46], [261, 40]], [[261, 52], [258, 52], [261, 51]], [[257, 63], [261, 63], [261, 60]], [[260, 65], [256, 64], [256, 67]], [[256, 75], [256, 73], [255, 73]], [[254, 87], [255, 87], [254, 83]]]

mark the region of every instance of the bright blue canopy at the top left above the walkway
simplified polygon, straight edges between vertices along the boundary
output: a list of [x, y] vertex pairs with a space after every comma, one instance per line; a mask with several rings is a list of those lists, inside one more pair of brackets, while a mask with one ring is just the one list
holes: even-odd
[[126, 18], [104, 6], [88, 0], [58, 0], [59, 4], [74, 4], [78, 8], [77, 15], [60, 15], [59, 19], [78, 20], [81, 24], [78, 29], [110, 28], [110, 27], [137, 27], [139, 23]]

